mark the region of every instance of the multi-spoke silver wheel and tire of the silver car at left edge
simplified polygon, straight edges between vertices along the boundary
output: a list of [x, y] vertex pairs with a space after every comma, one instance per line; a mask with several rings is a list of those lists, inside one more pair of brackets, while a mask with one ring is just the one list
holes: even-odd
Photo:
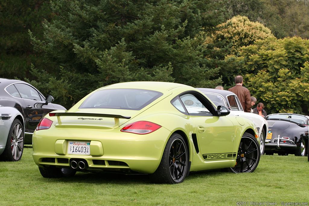
[[3, 153], [0, 155], [0, 160], [3, 161], [19, 161], [23, 155], [24, 131], [21, 122], [15, 119], [11, 125], [6, 146]]

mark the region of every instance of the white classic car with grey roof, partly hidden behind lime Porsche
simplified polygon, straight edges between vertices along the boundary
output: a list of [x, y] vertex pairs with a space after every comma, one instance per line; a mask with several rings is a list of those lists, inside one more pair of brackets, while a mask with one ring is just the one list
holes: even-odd
[[268, 122], [263, 117], [257, 114], [244, 112], [237, 95], [231, 91], [208, 88], [197, 89], [203, 92], [217, 107], [218, 105], [223, 105], [229, 108], [231, 110], [229, 115], [242, 116], [251, 120], [258, 129], [261, 143], [260, 150], [261, 154], [264, 154], [266, 132], [268, 132]]

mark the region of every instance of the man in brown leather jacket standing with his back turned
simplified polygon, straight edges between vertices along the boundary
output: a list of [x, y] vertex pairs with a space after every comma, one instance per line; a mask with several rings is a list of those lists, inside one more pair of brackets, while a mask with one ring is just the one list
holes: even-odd
[[243, 77], [238, 75], [235, 77], [236, 86], [233, 86], [229, 91], [235, 93], [245, 112], [251, 112], [251, 95], [250, 91], [243, 87]]

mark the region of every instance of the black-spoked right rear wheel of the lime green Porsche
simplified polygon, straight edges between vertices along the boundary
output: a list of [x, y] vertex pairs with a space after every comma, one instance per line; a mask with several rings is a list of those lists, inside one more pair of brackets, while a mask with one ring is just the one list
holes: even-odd
[[189, 164], [188, 146], [180, 134], [171, 135], [157, 170], [150, 174], [154, 183], [177, 184], [184, 181]]

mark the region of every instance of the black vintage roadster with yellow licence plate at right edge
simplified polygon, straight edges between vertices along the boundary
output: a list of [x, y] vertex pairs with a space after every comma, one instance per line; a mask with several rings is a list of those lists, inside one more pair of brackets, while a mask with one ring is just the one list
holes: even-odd
[[271, 114], [266, 116], [266, 120], [269, 129], [265, 141], [265, 154], [308, 155], [308, 116]]

